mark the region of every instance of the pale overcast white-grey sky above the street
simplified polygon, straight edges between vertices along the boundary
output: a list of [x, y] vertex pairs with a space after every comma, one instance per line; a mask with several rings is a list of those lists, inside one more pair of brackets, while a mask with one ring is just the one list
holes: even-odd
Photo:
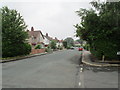
[[73, 25], [80, 22], [80, 17], [75, 11], [90, 8], [89, 2], [90, 0], [4, 0], [0, 7], [8, 6], [19, 11], [29, 30], [33, 26], [35, 30], [48, 33], [51, 37], [76, 39]]

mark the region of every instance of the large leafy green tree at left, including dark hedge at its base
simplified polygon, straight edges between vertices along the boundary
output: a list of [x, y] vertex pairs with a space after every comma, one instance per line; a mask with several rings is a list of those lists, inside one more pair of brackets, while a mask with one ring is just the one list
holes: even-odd
[[31, 52], [31, 46], [26, 39], [24, 19], [16, 10], [8, 7], [1, 9], [2, 13], [2, 57], [26, 55]]

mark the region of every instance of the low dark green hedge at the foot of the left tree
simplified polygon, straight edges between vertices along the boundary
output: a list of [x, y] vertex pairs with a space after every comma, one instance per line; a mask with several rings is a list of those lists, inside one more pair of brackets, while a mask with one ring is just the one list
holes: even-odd
[[2, 48], [2, 57], [15, 57], [21, 55], [28, 55], [31, 52], [31, 46], [27, 43], [18, 44], [18, 45], [3, 45]]

